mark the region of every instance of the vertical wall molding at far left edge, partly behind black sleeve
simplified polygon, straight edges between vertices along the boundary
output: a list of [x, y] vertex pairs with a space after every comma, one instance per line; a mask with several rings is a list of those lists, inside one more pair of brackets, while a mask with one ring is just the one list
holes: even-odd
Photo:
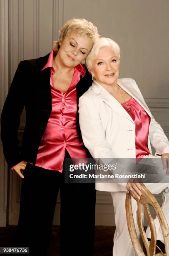
[[[8, 1], [0, 1], [0, 113], [9, 87]], [[0, 141], [0, 227], [7, 224], [7, 163]]]

